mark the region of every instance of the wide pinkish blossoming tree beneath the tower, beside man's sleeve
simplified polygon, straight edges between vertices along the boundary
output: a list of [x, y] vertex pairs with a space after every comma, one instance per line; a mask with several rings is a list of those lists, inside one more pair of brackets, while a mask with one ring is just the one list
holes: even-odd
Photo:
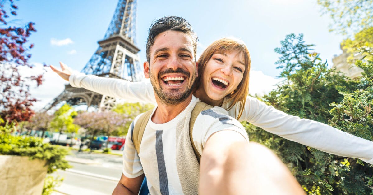
[[87, 132], [92, 135], [92, 139], [98, 133], [110, 136], [112, 134], [122, 134], [118, 131], [123, 130], [123, 126], [130, 120], [128, 115], [119, 114], [113, 111], [103, 112], [83, 112], [75, 117], [74, 123], [87, 129]]

